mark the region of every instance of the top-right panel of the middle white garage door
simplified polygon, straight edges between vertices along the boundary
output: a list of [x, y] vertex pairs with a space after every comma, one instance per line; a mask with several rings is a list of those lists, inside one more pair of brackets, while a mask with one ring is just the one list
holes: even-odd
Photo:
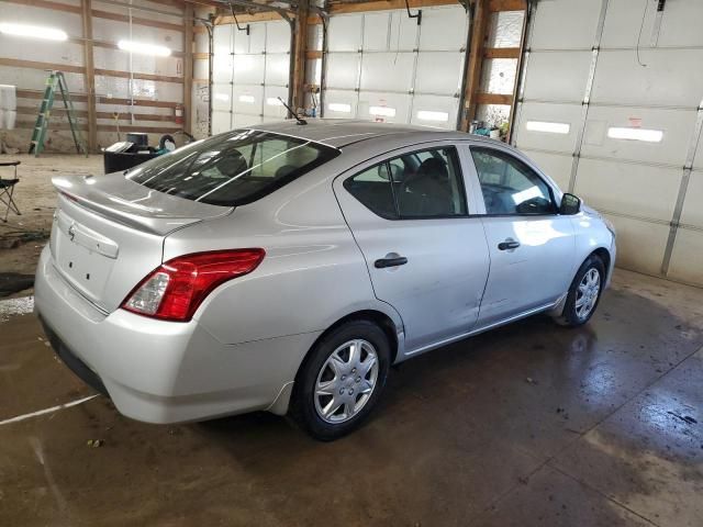
[[425, 8], [420, 26], [420, 49], [459, 51], [466, 47], [467, 14], [460, 5]]

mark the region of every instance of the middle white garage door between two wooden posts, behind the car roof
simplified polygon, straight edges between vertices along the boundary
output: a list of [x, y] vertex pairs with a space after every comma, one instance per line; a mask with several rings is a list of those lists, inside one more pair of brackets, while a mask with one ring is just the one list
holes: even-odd
[[467, 31], [460, 5], [332, 16], [324, 116], [456, 128]]

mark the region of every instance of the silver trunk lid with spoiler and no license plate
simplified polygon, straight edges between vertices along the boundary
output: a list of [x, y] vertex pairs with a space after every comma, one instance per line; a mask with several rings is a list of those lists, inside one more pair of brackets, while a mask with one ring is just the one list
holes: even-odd
[[107, 313], [161, 264], [169, 233], [232, 211], [148, 189], [122, 173], [52, 181], [59, 192], [49, 242], [54, 266]]

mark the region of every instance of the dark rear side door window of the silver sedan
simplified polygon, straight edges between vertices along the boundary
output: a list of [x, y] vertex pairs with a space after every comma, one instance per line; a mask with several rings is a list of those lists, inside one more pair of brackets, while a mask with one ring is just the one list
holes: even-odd
[[364, 205], [389, 220], [464, 216], [466, 193], [456, 149], [432, 148], [386, 160], [345, 181]]

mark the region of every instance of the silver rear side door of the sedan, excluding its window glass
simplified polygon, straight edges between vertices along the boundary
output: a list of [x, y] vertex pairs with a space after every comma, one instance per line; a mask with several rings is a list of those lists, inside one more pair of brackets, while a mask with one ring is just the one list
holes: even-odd
[[[400, 313], [405, 351], [412, 354], [475, 327], [488, 278], [488, 247], [480, 217], [388, 220], [369, 210], [344, 181], [379, 161], [341, 176], [334, 191], [366, 259], [375, 294]], [[377, 267], [377, 260], [397, 258], [406, 261]]]

